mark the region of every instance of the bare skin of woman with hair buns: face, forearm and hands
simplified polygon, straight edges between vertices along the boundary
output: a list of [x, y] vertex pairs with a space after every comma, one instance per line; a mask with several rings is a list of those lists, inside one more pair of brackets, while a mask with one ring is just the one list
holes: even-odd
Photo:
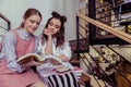
[[[45, 49], [46, 54], [52, 54], [52, 38], [56, 37], [56, 34], [60, 30], [61, 22], [57, 18], [52, 18], [48, 27], [44, 29], [44, 34], [48, 36], [47, 47]], [[64, 54], [59, 55], [63, 62], [69, 61], [69, 58]]]

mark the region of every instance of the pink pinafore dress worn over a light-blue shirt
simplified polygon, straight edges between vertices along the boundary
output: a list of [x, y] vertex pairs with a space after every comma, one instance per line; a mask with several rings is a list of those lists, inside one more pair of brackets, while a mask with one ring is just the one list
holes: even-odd
[[[35, 38], [33, 37], [31, 41], [26, 41], [20, 38], [17, 32], [14, 32], [14, 34], [16, 36], [17, 57], [33, 52]], [[26, 87], [36, 80], [39, 80], [39, 77], [33, 70], [19, 74], [7, 67], [7, 60], [0, 61], [0, 87]]]

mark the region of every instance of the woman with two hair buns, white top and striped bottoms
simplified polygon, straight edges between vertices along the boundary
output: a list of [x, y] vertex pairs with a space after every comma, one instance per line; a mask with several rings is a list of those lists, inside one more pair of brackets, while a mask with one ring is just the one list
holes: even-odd
[[[69, 42], [64, 39], [64, 22], [67, 21], [67, 17], [61, 16], [55, 11], [51, 15], [52, 16], [47, 21], [43, 34], [39, 36], [38, 51], [40, 51], [43, 55], [56, 55], [62, 60], [64, 66], [73, 69], [69, 63], [69, 60], [71, 59], [71, 48]], [[78, 79], [71, 72], [62, 75], [55, 74], [44, 77], [44, 69], [52, 69], [53, 66], [56, 65], [50, 65], [49, 62], [37, 66], [37, 72], [40, 77], [48, 83], [49, 87], [79, 87]], [[43, 73], [40, 74], [41, 71]]]

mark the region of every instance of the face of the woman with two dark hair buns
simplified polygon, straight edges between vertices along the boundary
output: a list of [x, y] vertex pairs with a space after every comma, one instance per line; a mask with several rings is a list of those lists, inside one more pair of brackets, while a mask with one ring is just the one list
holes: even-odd
[[61, 27], [60, 20], [52, 18], [52, 20], [50, 20], [47, 28], [51, 35], [55, 35], [59, 32], [60, 27]]

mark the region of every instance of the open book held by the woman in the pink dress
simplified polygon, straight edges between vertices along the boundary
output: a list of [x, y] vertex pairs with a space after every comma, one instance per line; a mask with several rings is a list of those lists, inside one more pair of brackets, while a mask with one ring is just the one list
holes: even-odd
[[25, 64], [25, 63], [28, 63], [29, 61], [35, 61], [39, 63], [43, 63], [43, 62], [55, 63], [56, 62], [57, 64], [62, 64], [62, 60], [58, 57], [55, 57], [55, 55], [41, 55], [40, 57], [37, 53], [28, 53], [17, 59], [17, 63], [20, 64]]

